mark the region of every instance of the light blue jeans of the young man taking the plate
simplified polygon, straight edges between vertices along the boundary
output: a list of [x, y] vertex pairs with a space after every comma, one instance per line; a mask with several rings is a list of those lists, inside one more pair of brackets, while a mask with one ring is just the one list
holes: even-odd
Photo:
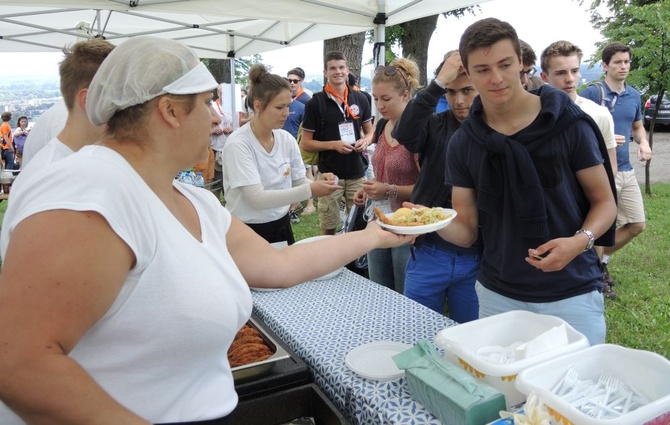
[[550, 314], [568, 322], [577, 332], [589, 340], [590, 345], [604, 344], [607, 326], [605, 324], [605, 302], [603, 294], [593, 290], [548, 303], [528, 303], [507, 298], [484, 288], [479, 281], [475, 285], [479, 296], [479, 317], [484, 318], [512, 310], [526, 310], [539, 314]]

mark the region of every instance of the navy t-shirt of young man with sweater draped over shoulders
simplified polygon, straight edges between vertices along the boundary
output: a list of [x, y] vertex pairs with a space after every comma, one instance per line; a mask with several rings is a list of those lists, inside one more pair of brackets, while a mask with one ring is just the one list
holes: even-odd
[[[522, 138], [529, 133], [541, 137], [550, 131], [557, 117], [547, 113], [546, 109], [562, 110], [556, 105], [553, 108], [548, 105], [555, 97], [543, 98], [542, 111], [536, 120], [509, 137]], [[468, 121], [471, 128], [485, 137], [494, 130], [484, 123], [481, 116], [481, 100], [477, 98]], [[483, 168], [492, 166], [482, 160], [485, 152], [485, 148], [473, 141], [461, 127], [449, 144], [447, 183], [477, 192]], [[496, 160], [495, 156], [489, 158]], [[593, 249], [577, 256], [563, 270], [549, 273], [529, 265], [525, 258], [529, 248], [536, 248], [551, 239], [571, 237], [582, 228], [589, 203], [575, 173], [603, 163], [593, 127], [578, 119], [548, 138], [532, 152], [531, 158], [543, 188], [549, 235], [546, 238], [521, 236], [510, 183], [503, 178], [499, 209], [495, 213], [486, 213], [478, 208], [484, 241], [478, 280], [487, 289], [524, 302], [552, 302], [591, 292], [602, 286], [602, 272]]]

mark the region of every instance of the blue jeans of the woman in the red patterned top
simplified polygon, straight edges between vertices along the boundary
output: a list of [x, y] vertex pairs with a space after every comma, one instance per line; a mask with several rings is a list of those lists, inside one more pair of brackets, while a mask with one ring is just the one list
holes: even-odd
[[405, 288], [405, 266], [409, 244], [396, 248], [373, 249], [368, 252], [370, 280], [402, 294]]

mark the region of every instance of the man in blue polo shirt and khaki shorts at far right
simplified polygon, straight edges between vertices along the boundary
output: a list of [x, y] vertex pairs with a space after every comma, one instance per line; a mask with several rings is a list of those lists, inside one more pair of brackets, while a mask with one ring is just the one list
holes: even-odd
[[[618, 196], [617, 230], [614, 246], [607, 247], [602, 255], [605, 284], [614, 286], [609, 275], [609, 256], [623, 248], [628, 242], [644, 231], [646, 219], [640, 185], [630, 162], [629, 143], [631, 130], [638, 143], [637, 157], [640, 161], [651, 159], [651, 148], [642, 121], [640, 93], [626, 84], [630, 72], [631, 49], [625, 44], [610, 43], [603, 49], [603, 70], [605, 80], [593, 84], [580, 94], [582, 97], [606, 106], [614, 119], [614, 133], [617, 140], [617, 174], [615, 178]], [[612, 291], [613, 296], [616, 293]]]

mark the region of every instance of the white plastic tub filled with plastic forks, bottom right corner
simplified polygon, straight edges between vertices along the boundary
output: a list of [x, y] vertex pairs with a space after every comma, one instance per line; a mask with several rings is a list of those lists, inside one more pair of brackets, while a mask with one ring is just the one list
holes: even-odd
[[[609, 372], [651, 402], [618, 418], [596, 419], [585, 415], [551, 391], [571, 367], [577, 371], [580, 381], [592, 379], [595, 382], [604, 372]], [[533, 391], [561, 425], [670, 423], [670, 361], [650, 351], [595, 345], [524, 369], [517, 376], [516, 386], [524, 394]]]

